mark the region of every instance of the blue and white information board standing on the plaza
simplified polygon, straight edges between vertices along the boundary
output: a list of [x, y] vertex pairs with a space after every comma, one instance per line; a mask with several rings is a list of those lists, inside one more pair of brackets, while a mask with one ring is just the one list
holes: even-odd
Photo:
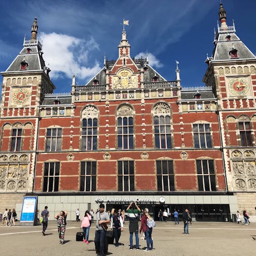
[[20, 221], [34, 222], [37, 196], [24, 196]]

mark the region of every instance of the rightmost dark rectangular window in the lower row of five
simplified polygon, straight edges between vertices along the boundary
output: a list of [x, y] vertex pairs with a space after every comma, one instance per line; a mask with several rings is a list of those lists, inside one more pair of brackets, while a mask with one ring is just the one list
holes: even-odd
[[199, 191], [216, 191], [214, 160], [196, 160]]

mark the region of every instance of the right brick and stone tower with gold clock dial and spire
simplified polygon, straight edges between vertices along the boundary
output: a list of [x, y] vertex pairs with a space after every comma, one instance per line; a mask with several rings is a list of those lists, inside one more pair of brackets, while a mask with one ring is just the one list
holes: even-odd
[[256, 188], [256, 57], [236, 35], [234, 22], [227, 26], [222, 4], [219, 20], [203, 81], [217, 96], [227, 189], [240, 209], [248, 209]]

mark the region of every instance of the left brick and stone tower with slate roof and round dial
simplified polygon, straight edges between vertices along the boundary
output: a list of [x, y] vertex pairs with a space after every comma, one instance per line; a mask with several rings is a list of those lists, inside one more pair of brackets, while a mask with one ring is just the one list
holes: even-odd
[[35, 18], [31, 39], [24, 38], [23, 48], [2, 72], [0, 115], [0, 192], [8, 196], [33, 191], [35, 173], [39, 106], [45, 93], [55, 89], [50, 69], [42, 58]]

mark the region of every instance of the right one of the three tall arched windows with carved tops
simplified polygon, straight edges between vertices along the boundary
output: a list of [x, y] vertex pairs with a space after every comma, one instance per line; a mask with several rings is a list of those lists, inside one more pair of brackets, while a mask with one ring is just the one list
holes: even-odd
[[153, 108], [155, 147], [172, 148], [170, 132], [170, 107], [166, 103], [158, 103]]

